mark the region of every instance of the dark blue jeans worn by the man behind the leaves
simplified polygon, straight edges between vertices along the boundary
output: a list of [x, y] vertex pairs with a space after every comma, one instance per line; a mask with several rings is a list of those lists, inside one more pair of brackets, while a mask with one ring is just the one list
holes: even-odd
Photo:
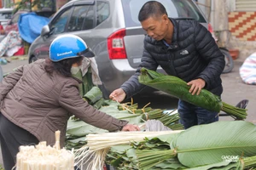
[[207, 111], [181, 99], [178, 100], [177, 111], [185, 129], [195, 125], [218, 122], [218, 112]]

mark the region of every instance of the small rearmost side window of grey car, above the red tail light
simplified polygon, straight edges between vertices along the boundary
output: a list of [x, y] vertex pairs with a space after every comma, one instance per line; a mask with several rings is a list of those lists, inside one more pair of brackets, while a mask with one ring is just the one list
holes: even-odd
[[101, 24], [109, 16], [109, 4], [98, 1], [96, 4], [96, 26]]

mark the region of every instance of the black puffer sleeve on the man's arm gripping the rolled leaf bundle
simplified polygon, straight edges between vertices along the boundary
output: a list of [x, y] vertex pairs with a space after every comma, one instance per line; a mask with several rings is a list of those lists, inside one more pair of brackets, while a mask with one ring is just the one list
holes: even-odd
[[195, 48], [207, 62], [207, 67], [201, 72], [199, 78], [207, 82], [206, 88], [211, 89], [215, 77], [220, 77], [224, 70], [224, 54], [221, 53], [210, 31], [198, 22], [195, 23]]

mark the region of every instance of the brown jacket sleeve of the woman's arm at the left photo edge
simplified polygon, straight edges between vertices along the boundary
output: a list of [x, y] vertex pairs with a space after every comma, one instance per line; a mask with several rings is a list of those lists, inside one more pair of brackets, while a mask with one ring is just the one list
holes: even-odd
[[9, 73], [7, 77], [3, 78], [3, 82], [0, 82], [0, 102], [3, 101], [6, 94], [15, 87], [15, 84], [20, 80], [23, 75], [23, 65], [18, 67], [15, 71]]

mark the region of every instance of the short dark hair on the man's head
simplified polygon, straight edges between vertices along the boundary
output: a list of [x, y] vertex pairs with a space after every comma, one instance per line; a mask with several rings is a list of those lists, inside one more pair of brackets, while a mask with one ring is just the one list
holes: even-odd
[[143, 4], [143, 7], [138, 14], [138, 20], [142, 22], [147, 20], [149, 17], [158, 17], [163, 14], [168, 16], [166, 8], [162, 3], [157, 1], [148, 1], [148, 3]]

